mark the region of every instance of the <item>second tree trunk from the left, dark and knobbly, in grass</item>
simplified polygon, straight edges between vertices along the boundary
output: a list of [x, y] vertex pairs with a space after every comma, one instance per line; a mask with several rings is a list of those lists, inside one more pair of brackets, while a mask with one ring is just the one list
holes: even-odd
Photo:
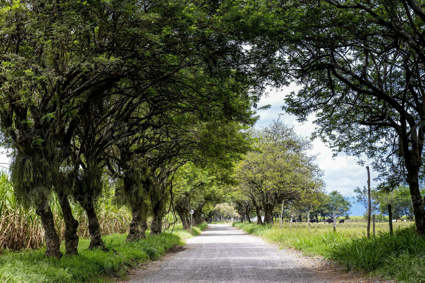
[[78, 255], [78, 221], [72, 215], [71, 205], [69, 205], [66, 193], [58, 193], [58, 198], [65, 222], [65, 253], [66, 255]]

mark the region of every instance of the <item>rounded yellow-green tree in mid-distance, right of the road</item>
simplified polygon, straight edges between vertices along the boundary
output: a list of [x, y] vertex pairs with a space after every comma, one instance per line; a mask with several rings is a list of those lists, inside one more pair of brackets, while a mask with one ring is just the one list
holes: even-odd
[[254, 150], [238, 165], [235, 178], [241, 192], [251, 198], [258, 217], [264, 210], [264, 221], [271, 223], [274, 208], [282, 202], [301, 202], [306, 195], [320, 191], [322, 172], [314, 164], [315, 156], [308, 154], [311, 143], [281, 121], [253, 131], [253, 137], [257, 140]]

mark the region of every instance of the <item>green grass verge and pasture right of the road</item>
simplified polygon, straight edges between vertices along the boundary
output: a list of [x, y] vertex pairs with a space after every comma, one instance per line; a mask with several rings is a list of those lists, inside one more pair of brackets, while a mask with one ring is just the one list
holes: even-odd
[[281, 247], [293, 247], [307, 255], [321, 255], [337, 261], [347, 269], [371, 272], [399, 282], [425, 283], [425, 238], [415, 232], [412, 224], [394, 223], [395, 233], [386, 230], [388, 223], [377, 224], [377, 234], [371, 239], [364, 236], [365, 223], [337, 225], [334, 233], [331, 224], [314, 224], [309, 233], [307, 224], [297, 229], [284, 224], [261, 226], [234, 223], [247, 233], [258, 235]]

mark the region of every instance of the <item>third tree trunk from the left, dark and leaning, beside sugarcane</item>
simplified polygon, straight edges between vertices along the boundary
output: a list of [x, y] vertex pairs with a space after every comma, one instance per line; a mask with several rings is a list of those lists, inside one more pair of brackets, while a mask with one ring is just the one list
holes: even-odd
[[102, 234], [100, 233], [99, 220], [97, 219], [94, 210], [93, 197], [86, 195], [85, 200], [79, 201], [88, 218], [88, 231], [90, 232], [91, 241], [88, 246], [89, 249], [103, 249], [106, 250], [105, 243], [102, 241]]

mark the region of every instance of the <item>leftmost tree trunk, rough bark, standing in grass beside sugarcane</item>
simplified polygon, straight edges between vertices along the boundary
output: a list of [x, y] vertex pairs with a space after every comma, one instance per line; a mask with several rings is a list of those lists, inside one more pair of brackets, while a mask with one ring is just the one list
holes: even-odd
[[44, 236], [46, 238], [46, 257], [62, 258], [62, 253], [59, 250], [60, 241], [54, 226], [53, 213], [47, 202], [36, 208], [35, 212], [41, 218], [41, 223], [44, 228]]

